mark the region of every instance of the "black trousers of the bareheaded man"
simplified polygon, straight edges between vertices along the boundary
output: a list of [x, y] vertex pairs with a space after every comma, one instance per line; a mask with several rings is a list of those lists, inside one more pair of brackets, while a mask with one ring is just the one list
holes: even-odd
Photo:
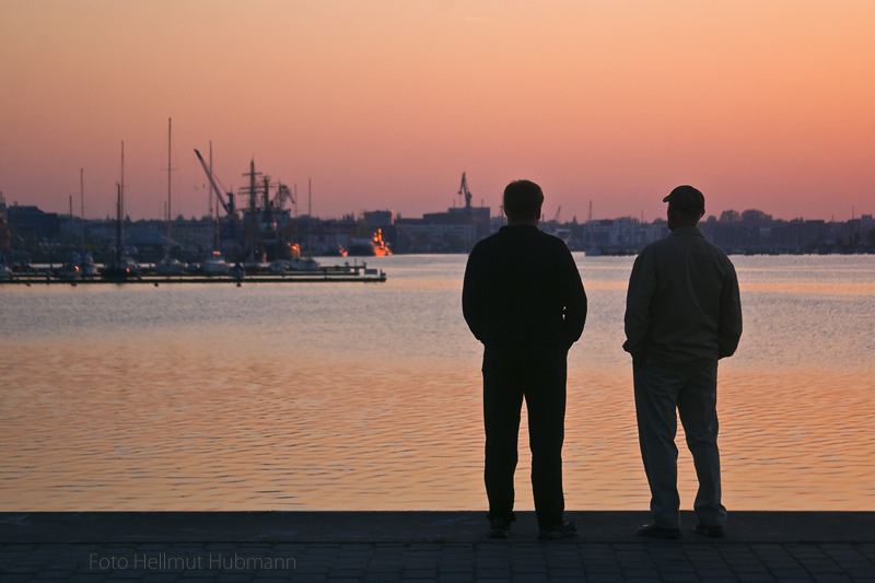
[[490, 521], [514, 520], [513, 475], [525, 398], [538, 525], [546, 528], [562, 522], [567, 358], [568, 350], [561, 346], [487, 346], [483, 351], [485, 479]]

